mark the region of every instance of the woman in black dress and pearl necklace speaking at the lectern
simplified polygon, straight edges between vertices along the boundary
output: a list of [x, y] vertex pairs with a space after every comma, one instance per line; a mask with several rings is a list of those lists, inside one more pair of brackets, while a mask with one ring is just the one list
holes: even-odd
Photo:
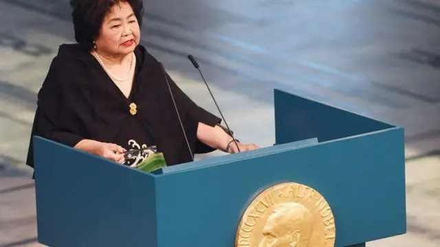
[[[140, 43], [142, 0], [71, 0], [78, 44], [61, 45], [38, 95], [32, 136], [135, 165], [126, 150], [156, 145], [167, 165], [193, 154], [258, 148], [234, 140], [197, 106]], [[185, 134], [184, 134], [185, 133]], [[190, 148], [188, 148], [188, 143]], [[189, 149], [191, 152], [189, 152]], [[33, 167], [32, 142], [28, 165]]]

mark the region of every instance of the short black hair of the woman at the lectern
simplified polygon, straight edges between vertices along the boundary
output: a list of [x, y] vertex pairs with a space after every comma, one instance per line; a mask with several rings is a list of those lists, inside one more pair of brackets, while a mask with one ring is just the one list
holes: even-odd
[[142, 0], [70, 0], [75, 40], [84, 49], [91, 51], [98, 38], [104, 17], [113, 5], [126, 2], [131, 5], [139, 25], [142, 25], [144, 3]]

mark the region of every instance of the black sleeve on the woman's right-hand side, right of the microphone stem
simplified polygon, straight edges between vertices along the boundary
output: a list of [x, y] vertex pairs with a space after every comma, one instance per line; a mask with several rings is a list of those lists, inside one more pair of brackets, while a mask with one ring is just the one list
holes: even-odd
[[169, 75], [167, 75], [167, 78], [170, 89], [173, 91], [177, 108], [179, 108], [179, 114], [181, 118], [184, 119], [183, 124], [186, 130], [186, 137], [188, 137], [193, 152], [195, 154], [204, 154], [214, 151], [214, 148], [211, 148], [197, 139], [197, 127], [199, 126], [199, 122], [214, 127], [221, 123], [221, 118], [195, 104], [184, 91], [181, 91], [179, 86], [175, 84]]

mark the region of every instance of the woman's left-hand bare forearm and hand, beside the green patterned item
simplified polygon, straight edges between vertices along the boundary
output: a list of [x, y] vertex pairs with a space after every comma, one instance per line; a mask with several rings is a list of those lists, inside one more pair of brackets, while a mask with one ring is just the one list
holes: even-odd
[[84, 139], [76, 144], [74, 148], [96, 154], [102, 158], [108, 158], [109, 160], [118, 163], [124, 163], [125, 161], [123, 153], [126, 152], [126, 150], [120, 145], [116, 145], [114, 143], [104, 143]]

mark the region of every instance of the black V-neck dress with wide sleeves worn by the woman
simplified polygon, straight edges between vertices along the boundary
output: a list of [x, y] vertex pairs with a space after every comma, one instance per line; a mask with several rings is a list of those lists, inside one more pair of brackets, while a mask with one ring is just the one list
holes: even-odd
[[[83, 139], [115, 143], [126, 150], [156, 145], [167, 165], [192, 161], [159, 62], [142, 46], [135, 49], [135, 56], [135, 78], [127, 98], [94, 56], [77, 44], [61, 45], [38, 94], [28, 165], [34, 167], [35, 135], [71, 147]], [[197, 106], [167, 77], [192, 154], [212, 152], [198, 141], [197, 126], [199, 122], [215, 126], [221, 119]]]

